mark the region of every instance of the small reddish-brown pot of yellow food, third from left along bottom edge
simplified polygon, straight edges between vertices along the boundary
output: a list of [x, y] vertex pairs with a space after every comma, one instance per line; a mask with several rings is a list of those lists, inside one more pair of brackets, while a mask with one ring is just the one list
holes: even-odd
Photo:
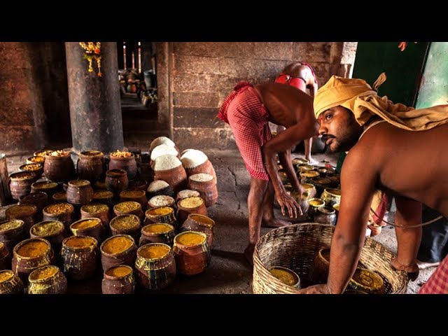
[[134, 294], [134, 269], [128, 265], [109, 267], [104, 271], [103, 294]]

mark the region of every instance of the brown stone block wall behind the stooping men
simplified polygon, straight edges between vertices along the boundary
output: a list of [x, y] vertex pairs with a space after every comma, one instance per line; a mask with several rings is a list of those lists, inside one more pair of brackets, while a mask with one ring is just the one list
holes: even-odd
[[304, 61], [322, 85], [338, 73], [346, 49], [343, 42], [159, 43], [158, 69], [161, 62], [169, 69], [164, 78], [158, 73], [160, 119], [181, 148], [235, 148], [230, 127], [215, 117], [239, 80], [273, 81], [287, 64]]

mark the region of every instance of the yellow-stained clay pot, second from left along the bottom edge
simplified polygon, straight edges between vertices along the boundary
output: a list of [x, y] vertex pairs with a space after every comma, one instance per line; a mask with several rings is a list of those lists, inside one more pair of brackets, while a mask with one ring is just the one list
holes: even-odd
[[67, 279], [56, 266], [34, 269], [28, 276], [28, 294], [65, 294]]

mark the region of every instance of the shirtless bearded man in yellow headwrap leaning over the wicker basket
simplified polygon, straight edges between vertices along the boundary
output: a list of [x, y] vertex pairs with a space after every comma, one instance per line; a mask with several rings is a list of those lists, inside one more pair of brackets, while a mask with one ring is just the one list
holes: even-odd
[[[342, 293], [355, 272], [375, 190], [395, 197], [398, 255], [391, 266], [418, 274], [421, 203], [448, 216], [448, 105], [415, 110], [379, 97], [384, 73], [365, 80], [332, 76], [318, 90], [314, 113], [330, 151], [349, 151], [325, 284], [300, 293]], [[417, 226], [414, 226], [417, 225]], [[445, 278], [447, 279], [447, 278]], [[448, 284], [447, 284], [448, 290]]]

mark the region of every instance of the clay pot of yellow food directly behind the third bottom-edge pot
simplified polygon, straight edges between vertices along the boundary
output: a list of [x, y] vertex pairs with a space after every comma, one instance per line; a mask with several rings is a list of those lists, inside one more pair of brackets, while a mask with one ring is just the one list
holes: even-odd
[[118, 265], [133, 266], [137, 253], [137, 245], [130, 235], [114, 235], [106, 239], [100, 246], [103, 270]]

